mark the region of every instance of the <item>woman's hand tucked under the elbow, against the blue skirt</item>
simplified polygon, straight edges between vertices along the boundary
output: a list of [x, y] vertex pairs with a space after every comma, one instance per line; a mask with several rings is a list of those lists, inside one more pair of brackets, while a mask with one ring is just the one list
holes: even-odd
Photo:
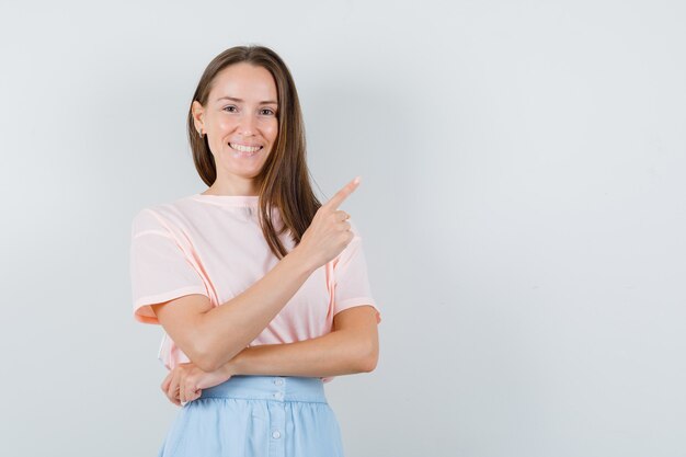
[[202, 389], [217, 386], [231, 377], [225, 366], [215, 372], [203, 372], [194, 363], [176, 365], [160, 386], [169, 400], [178, 407], [199, 398]]

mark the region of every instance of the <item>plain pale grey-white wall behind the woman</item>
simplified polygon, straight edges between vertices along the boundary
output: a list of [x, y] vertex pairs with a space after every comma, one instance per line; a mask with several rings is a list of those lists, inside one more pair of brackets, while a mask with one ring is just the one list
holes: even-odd
[[[2, 2], [3, 456], [155, 456], [134, 214], [206, 186], [205, 66], [262, 44], [359, 228], [375, 372], [346, 457], [686, 456], [682, 1]], [[198, 456], [202, 457], [202, 456]], [[313, 456], [325, 457], [325, 456]]]

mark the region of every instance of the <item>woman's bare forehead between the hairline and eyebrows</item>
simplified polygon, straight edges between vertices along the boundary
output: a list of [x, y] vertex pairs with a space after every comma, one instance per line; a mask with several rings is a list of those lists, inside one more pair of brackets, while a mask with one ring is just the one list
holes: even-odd
[[245, 101], [276, 100], [276, 83], [264, 67], [233, 64], [217, 73], [209, 92], [213, 102], [225, 95]]

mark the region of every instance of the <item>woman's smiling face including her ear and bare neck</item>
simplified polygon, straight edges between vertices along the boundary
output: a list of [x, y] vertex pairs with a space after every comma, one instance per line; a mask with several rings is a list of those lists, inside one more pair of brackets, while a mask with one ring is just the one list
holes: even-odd
[[278, 133], [276, 83], [263, 67], [233, 64], [217, 73], [205, 106], [193, 102], [195, 127], [207, 134], [221, 195], [255, 195]]

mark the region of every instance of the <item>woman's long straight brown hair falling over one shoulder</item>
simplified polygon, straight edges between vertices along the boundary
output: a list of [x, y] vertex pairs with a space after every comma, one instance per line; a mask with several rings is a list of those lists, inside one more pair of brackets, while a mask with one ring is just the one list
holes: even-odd
[[[201, 179], [210, 186], [217, 179], [217, 168], [209, 150], [207, 135], [201, 138], [195, 129], [193, 102], [197, 101], [205, 106], [217, 73], [239, 62], [265, 68], [276, 82], [278, 133], [272, 152], [255, 180], [260, 190], [259, 218], [262, 232], [274, 255], [282, 259], [288, 252], [278, 235], [290, 229], [293, 241], [297, 245], [321, 203], [310, 186], [305, 125], [298, 92], [288, 67], [272, 49], [256, 45], [236, 46], [226, 49], [209, 62], [188, 108], [188, 141], [193, 151], [193, 162]], [[274, 228], [270, 208], [277, 208], [281, 214], [284, 225], [278, 231]]]

